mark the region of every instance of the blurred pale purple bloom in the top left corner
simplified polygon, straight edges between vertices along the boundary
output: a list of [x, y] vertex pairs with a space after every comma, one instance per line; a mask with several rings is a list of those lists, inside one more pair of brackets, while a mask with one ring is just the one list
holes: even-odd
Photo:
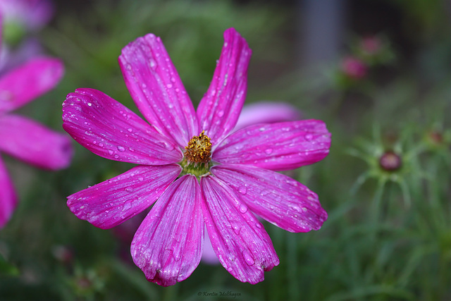
[[0, 15], [4, 27], [0, 72], [4, 73], [44, 53], [32, 35], [49, 23], [54, 6], [49, 0], [0, 0]]

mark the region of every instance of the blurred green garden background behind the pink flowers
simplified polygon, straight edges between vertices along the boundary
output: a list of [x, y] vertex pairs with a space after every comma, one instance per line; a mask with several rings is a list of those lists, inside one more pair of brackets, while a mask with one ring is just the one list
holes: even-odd
[[[148, 32], [161, 37], [197, 104], [223, 31], [235, 27], [253, 51], [247, 103], [288, 102], [332, 133], [326, 159], [290, 173], [319, 195], [329, 218], [311, 233], [265, 223], [280, 265], [262, 283], [201, 262], [162, 288], [132, 264], [134, 224], [101, 230], [66, 207], [68, 195], [131, 164], [75, 142], [73, 164], [55, 173], [4, 156], [20, 203], [0, 230], [0, 300], [451, 300], [450, 1], [54, 4], [37, 37], [66, 73], [20, 113], [62, 131], [61, 103], [78, 87], [137, 111], [117, 59]], [[369, 37], [375, 53], [362, 48]], [[346, 58], [357, 59], [360, 73]], [[387, 152], [402, 164], [381, 164]]]

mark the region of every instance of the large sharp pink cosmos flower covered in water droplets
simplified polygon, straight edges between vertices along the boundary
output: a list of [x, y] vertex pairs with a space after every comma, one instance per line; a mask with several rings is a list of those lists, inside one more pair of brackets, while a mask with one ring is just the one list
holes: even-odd
[[292, 232], [321, 228], [318, 197], [276, 173], [328, 154], [322, 121], [251, 125], [230, 133], [247, 90], [251, 50], [233, 28], [197, 111], [161, 39], [128, 44], [119, 63], [146, 123], [108, 95], [82, 88], [63, 102], [63, 128], [94, 154], [139, 164], [68, 197], [80, 219], [111, 228], [147, 207], [131, 254], [147, 280], [173, 285], [202, 256], [204, 227], [221, 264], [240, 281], [258, 283], [279, 263], [254, 214]]

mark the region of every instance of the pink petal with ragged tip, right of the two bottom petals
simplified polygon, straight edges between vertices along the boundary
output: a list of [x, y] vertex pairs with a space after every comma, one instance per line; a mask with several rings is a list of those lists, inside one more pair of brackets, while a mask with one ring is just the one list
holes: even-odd
[[219, 262], [235, 278], [252, 284], [279, 264], [271, 238], [247, 206], [222, 180], [201, 178], [206, 229]]

